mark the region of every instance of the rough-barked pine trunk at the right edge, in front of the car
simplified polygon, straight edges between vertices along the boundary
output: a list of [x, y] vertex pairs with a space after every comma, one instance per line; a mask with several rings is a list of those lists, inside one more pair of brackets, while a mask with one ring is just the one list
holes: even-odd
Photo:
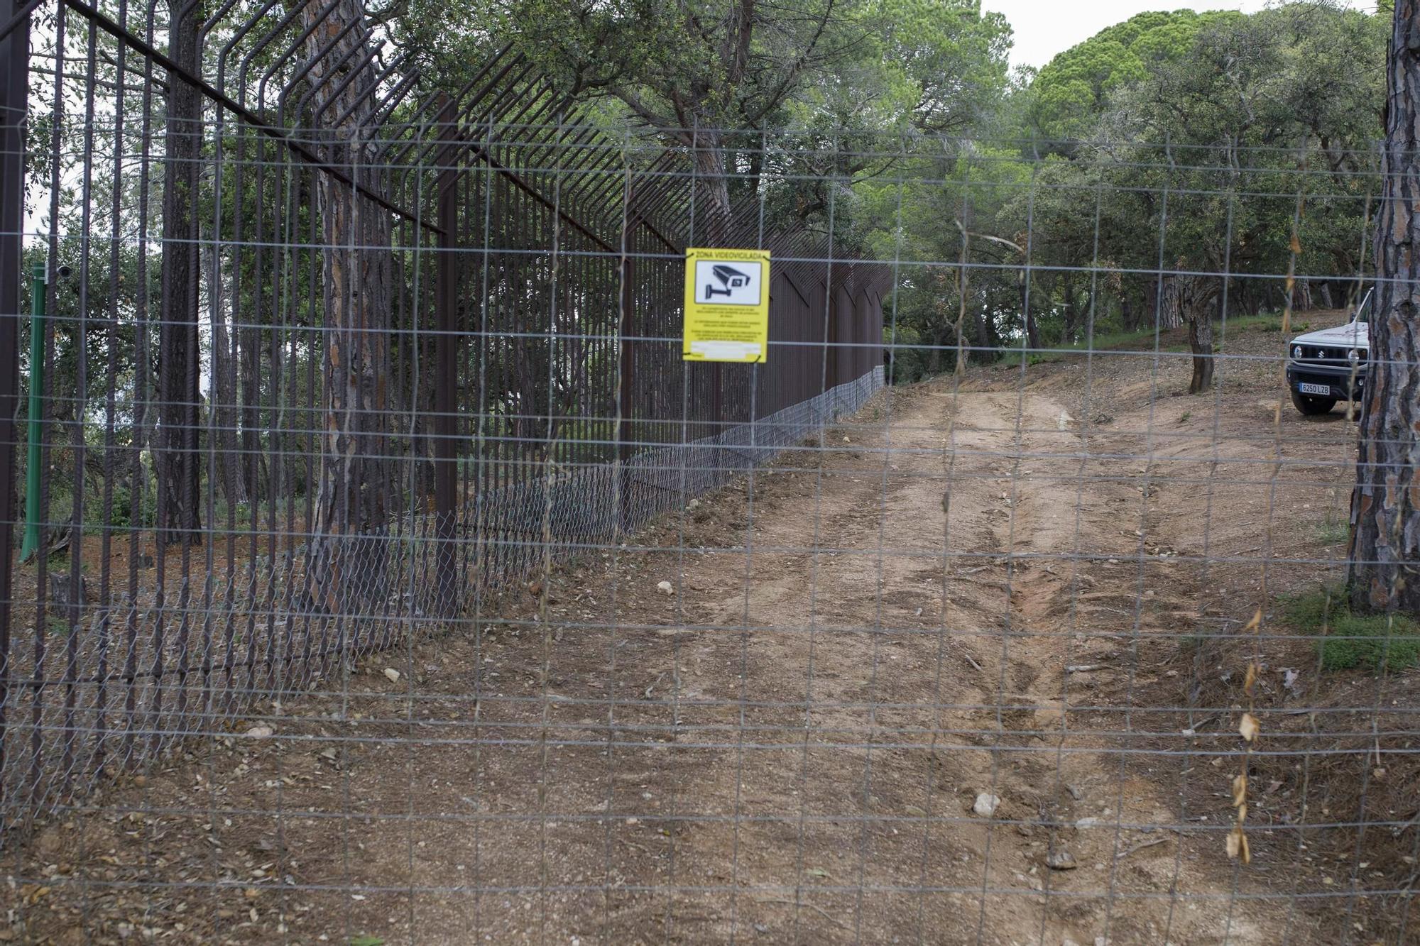
[[1376, 303], [1352, 493], [1350, 602], [1420, 614], [1420, 0], [1396, 0]]

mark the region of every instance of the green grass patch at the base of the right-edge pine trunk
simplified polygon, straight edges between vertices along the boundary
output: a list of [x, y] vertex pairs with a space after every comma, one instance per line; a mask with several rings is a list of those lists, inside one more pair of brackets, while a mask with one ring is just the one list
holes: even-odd
[[1323, 670], [1404, 670], [1420, 665], [1420, 628], [1400, 614], [1355, 614], [1343, 591], [1319, 588], [1284, 599], [1288, 622], [1316, 642]]

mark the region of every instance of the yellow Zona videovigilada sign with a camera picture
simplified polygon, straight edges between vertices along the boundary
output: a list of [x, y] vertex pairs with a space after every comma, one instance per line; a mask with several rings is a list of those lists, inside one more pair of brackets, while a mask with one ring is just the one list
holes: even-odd
[[764, 362], [770, 351], [770, 251], [686, 250], [686, 361]]

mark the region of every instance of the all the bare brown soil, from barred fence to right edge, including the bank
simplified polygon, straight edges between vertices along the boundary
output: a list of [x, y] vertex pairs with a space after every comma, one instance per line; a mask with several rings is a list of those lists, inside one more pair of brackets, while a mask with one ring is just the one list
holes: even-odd
[[[1413, 706], [1413, 672], [1319, 680], [1274, 621], [1238, 636], [1345, 558], [1355, 428], [1278, 413], [1281, 345], [1230, 339], [1216, 396], [1139, 354], [885, 393], [341, 690], [114, 780], [13, 855], [9, 939], [1407, 942], [1413, 868], [1370, 869], [1355, 825], [1390, 837], [1416, 803], [1394, 774], [1367, 811], [1331, 783], [1384, 766], [1323, 750], [1379, 720], [1356, 707]], [[1409, 759], [1406, 727], [1377, 759]]]

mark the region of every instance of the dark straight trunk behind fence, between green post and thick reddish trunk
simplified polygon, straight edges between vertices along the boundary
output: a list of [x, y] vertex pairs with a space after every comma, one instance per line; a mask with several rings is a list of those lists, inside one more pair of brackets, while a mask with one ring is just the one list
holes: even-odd
[[[169, 0], [170, 55], [197, 71], [199, 17]], [[163, 263], [158, 327], [158, 538], [165, 544], [202, 543], [199, 509], [197, 391], [197, 159], [202, 98], [173, 77], [168, 89], [168, 153], [163, 161]]]

